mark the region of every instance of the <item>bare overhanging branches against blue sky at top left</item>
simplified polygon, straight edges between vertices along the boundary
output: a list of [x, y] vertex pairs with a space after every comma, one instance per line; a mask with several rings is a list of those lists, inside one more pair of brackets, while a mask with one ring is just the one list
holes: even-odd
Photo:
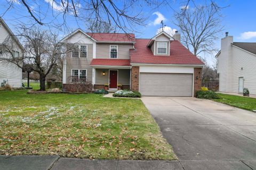
[[93, 21], [99, 25], [113, 23], [115, 30], [128, 32], [137, 31], [136, 25], [145, 24], [146, 17], [142, 9], [145, 5], [154, 5], [157, 4], [156, 2], [156, 0], [33, 0], [29, 2], [5, 0], [1, 7], [5, 10], [2, 13], [3, 16], [18, 4], [22, 7], [24, 16], [26, 18], [29, 16], [31, 21], [34, 21], [33, 24], [68, 29], [67, 18], [73, 17], [77, 23], [79, 21]]

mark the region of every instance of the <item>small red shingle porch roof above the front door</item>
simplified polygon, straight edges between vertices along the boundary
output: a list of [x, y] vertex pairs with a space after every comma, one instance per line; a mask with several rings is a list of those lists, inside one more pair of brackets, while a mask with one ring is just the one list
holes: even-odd
[[130, 60], [94, 58], [91, 65], [130, 66]]

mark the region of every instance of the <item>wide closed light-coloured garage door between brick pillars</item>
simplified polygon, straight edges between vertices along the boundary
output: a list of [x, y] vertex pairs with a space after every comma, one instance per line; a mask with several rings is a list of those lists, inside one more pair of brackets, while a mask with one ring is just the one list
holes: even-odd
[[193, 74], [140, 73], [142, 96], [192, 96]]

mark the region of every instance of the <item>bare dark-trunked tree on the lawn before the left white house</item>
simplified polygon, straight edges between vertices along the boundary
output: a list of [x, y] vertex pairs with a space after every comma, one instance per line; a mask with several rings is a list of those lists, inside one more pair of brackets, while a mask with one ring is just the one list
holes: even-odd
[[4, 43], [3, 53], [9, 57], [2, 57], [0, 61], [13, 63], [20, 68], [26, 63], [31, 67], [31, 71], [39, 74], [40, 90], [45, 90], [46, 76], [67, 51], [62, 48], [63, 44], [59, 43], [58, 36], [50, 31], [39, 27], [28, 29], [25, 25], [21, 25], [17, 30], [17, 37], [23, 42], [25, 53], [19, 56], [13, 54], [13, 38], [8, 37]]

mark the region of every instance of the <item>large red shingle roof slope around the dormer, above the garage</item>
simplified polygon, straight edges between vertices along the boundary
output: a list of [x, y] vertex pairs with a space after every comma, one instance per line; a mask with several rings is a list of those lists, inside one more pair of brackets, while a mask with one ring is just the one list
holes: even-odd
[[130, 50], [131, 63], [145, 64], [204, 64], [179, 41], [170, 41], [170, 56], [154, 55], [147, 47], [150, 39], [136, 39], [135, 49]]

